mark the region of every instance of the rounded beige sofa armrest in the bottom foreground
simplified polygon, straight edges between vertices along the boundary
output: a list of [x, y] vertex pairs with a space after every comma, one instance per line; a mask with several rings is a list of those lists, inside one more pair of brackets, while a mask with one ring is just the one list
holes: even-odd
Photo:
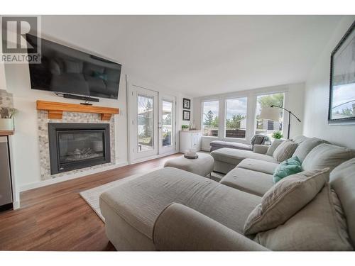
[[212, 218], [182, 204], [167, 206], [155, 220], [157, 250], [267, 250]]

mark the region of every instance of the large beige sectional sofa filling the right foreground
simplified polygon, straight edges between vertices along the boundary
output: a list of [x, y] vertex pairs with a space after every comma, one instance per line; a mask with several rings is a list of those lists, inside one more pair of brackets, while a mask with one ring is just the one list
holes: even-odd
[[[305, 140], [313, 147], [302, 145]], [[223, 156], [220, 152], [224, 149], [220, 149], [215, 151], [219, 153], [214, 160], [231, 168], [220, 182], [167, 167], [142, 177], [123, 179], [117, 187], [104, 192], [100, 208], [109, 240], [117, 250], [352, 250], [354, 151], [305, 137], [296, 138], [295, 142], [302, 148], [295, 153], [300, 155], [304, 170], [329, 167], [330, 184], [284, 225], [244, 235], [251, 212], [274, 186], [272, 174], [279, 162], [270, 155], [244, 150], [234, 150], [243, 154], [226, 150]], [[339, 198], [337, 211], [344, 212], [342, 231], [334, 226], [334, 207], [323, 207], [327, 205], [323, 202], [329, 201], [327, 186]], [[322, 222], [326, 220], [329, 223]], [[312, 236], [312, 232], [317, 235]], [[339, 241], [350, 244], [337, 245], [338, 235]]]

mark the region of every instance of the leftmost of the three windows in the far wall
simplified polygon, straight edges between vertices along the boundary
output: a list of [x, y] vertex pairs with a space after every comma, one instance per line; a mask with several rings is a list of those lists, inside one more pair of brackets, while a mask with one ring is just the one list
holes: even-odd
[[218, 101], [204, 101], [202, 103], [202, 135], [218, 136]]

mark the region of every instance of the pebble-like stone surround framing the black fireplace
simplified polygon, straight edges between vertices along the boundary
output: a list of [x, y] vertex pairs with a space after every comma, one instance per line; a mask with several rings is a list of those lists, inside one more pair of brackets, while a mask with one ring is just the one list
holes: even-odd
[[108, 165], [114, 165], [115, 163], [115, 134], [114, 134], [114, 116], [111, 117], [107, 123], [110, 128], [110, 148], [111, 148], [111, 162], [103, 165], [94, 165], [91, 167], [85, 167], [78, 170], [72, 170], [69, 172], [61, 172], [58, 174], [50, 174], [50, 152], [49, 152], [49, 140], [48, 140], [48, 123], [106, 123], [101, 120], [99, 113], [76, 113], [76, 112], [63, 112], [62, 119], [49, 119], [47, 111], [37, 111], [38, 115], [38, 143], [40, 152], [40, 179], [47, 180], [55, 177], [63, 177], [69, 174], [75, 174], [77, 172], [84, 172], [88, 170], [94, 170], [99, 167]]

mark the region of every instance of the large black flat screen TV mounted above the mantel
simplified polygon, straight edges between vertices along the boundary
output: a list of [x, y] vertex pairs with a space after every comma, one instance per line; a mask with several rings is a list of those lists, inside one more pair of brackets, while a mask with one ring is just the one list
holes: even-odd
[[[37, 36], [26, 38], [37, 44]], [[40, 54], [39, 64], [28, 64], [32, 89], [117, 99], [120, 64], [45, 39]]]

